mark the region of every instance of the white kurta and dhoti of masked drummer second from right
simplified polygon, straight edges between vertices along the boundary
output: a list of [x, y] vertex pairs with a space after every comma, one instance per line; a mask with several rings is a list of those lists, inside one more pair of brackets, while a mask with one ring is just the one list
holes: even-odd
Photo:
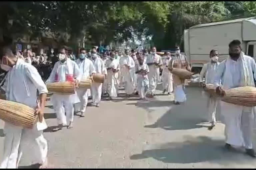
[[[205, 77], [206, 84], [213, 84], [219, 64], [220, 64], [219, 62], [216, 62], [216, 63], [208, 62], [204, 64], [200, 72], [200, 82], [202, 82], [203, 78]], [[220, 80], [219, 80], [219, 83], [220, 83]], [[207, 108], [208, 108], [209, 122], [212, 124], [216, 124], [216, 106], [217, 106], [217, 98], [211, 97], [210, 95], [208, 95]]]

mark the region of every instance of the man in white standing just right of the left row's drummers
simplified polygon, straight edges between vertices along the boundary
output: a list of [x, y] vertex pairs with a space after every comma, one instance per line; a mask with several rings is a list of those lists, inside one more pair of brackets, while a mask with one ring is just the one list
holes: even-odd
[[107, 60], [106, 68], [107, 75], [107, 92], [110, 100], [118, 95], [118, 71], [120, 65], [117, 59], [115, 59], [115, 52], [110, 53], [110, 58]]

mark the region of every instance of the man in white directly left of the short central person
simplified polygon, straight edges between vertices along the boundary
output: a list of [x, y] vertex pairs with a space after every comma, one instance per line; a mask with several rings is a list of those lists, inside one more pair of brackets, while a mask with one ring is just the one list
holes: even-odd
[[134, 92], [134, 76], [133, 69], [135, 67], [134, 60], [129, 56], [129, 50], [125, 50], [125, 55], [120, 59], [120, 67], [122, 70], [122, 76], [124, 77], [124, 89], [128, 97]]

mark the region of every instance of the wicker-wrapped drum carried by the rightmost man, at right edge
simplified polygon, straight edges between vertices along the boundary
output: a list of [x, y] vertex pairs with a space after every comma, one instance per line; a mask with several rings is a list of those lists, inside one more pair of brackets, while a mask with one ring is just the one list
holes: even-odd
[[235, 105], [254, 107], [256, 106], [256, 88], [244, 86], [225, 90], [221, 100]]

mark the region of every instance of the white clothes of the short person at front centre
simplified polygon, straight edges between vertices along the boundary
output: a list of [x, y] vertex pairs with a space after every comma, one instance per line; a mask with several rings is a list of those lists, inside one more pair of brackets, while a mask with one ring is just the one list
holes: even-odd
[[[140, 65], [139, 63], [137, 63], [135, 65], [135, 71], [139, 71], [139, 70], [147, 70], [147, 72], [149, 72], [149, 68], [147, 64], [142, 64]], [[149, 81], [148, 81], [148, 75], [142, 75], [142, 73], [138, 73], [137, 74], [137, 83], [138, 83], [138, 91], [139, 91], [139, 96], [141, 99], [145, 99], [146, 98], [146, 92], [148, 91], [149, 88]]]

